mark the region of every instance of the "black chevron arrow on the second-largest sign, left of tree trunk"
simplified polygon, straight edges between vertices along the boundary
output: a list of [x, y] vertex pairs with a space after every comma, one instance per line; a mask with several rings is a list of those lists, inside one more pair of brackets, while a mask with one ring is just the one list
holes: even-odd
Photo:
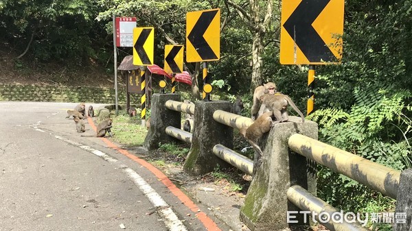
[[209, 27], [217, 13], [218, 10], [202, 12], [192, 32], [187, 36], [187, 39], [192, 43], [202, 60], [214, 60], [218, 58], [211, 47], [209, 47], [209, 44], [207, 44], [205, 38], [203, 38], [203, 34], [205, 34], [207, 27]]

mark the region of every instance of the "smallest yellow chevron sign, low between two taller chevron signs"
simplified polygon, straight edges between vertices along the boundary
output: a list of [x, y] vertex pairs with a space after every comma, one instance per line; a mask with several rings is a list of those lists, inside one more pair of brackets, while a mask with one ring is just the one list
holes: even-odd
[[182, 73], [183, 45], [165, 45], [165, 72]]

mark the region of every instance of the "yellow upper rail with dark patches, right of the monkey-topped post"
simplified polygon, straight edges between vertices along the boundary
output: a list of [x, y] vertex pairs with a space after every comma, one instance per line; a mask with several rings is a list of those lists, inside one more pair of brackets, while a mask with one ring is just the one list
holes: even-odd
[[400, 171], [301, 134], [290, 136], [288, 145], [292, 151], [396, 199]]

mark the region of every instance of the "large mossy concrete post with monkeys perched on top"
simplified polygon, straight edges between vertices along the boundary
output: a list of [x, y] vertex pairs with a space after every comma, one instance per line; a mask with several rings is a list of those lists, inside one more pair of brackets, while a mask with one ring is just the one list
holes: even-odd
[[286, 193], [295, 184], [316, 195], [316, 165], [304, 156], [288, 148], [288, 138], [303, 134], [317, 139], [318, 127], [313, 121], [301, 123], [300, 117], [290, 117], [286, 123], [275, 124], [262, 137], [260, 147], [264, 153], [240, 209], [240, 219], [251, 230], [284, 230], [303, 225], [303, 216], [297, 215], [299, 223], [287, 223], [287, 211], [299, 211], [288, 202]]

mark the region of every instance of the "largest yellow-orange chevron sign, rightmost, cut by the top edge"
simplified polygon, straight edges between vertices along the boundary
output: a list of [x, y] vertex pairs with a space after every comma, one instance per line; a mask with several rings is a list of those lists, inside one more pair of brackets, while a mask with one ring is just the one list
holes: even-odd
[[344, 0], [283, 0], [280, 63], [340, 62], [344, 5]]

